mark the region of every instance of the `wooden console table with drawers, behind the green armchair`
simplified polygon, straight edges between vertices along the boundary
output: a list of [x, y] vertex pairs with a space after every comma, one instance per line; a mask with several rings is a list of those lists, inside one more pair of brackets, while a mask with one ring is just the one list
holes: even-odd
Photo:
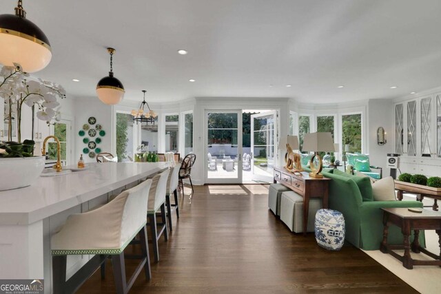
[[328, 208], [329, 178], [311, 178], [302, 171], [293, 174], [283, 167], [274, 168], [274, 182], [280, 182], [303, 197], [303, 235], [306, 235], [309, 212], [309, 198], [322, 198], [323, 208]]

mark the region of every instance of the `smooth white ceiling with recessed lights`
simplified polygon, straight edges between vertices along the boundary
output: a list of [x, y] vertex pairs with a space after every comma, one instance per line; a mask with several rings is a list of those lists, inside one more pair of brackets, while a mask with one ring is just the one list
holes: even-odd
[[[0, 13], [13, 13], [16, 4], [2, 0]], [[116, 48], [114, 73], [125, 98], [136, 101], [145, 89], [149, 102], [247, 96], [336, 103], [441, 85], [439, 0], [23, 0], [23, 6], [52, 45], [52, 61], [37, 75], [74, 96], [95, 96], [109, 70], [107, 47]]]

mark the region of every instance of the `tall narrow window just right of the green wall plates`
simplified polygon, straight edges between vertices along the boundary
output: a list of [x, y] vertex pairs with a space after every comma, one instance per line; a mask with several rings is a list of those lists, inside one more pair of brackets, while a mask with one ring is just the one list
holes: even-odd
[[116, 156], [119, 162], [132, 161], [133, 145], [132, 114], [116, 113]]

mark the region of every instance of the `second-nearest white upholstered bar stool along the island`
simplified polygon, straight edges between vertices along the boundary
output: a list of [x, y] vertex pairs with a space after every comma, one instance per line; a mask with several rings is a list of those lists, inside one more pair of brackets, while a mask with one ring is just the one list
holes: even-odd
[[[150, 225], [150, 231], [152, 231], [152, 243], [154, 261], [159, 261], [159, 249], [158, 240], [161, 235], [164, 234], [165, 241], [168, 240], [167, 232], [167, 218], [165, 214], [165, 192], [167, 191], [167, 179], [170, 174], [170, 169], [163, 171], [161, 174], [157, 174], [152, 179], [152, 188], [149, 193], [149, 202], [147, 204], [147, 219]], [[156, 213], [161, 211], [162, 222], [158, 229], [156, 224]]]

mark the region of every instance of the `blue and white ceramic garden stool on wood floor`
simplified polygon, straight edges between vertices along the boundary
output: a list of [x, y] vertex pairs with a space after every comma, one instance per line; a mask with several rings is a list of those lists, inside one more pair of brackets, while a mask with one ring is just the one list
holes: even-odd
[[319, 209], [315, 222], [316, 240], [328, 250], [340, 250], [345, 243], [345, 218], [340, 211]]

